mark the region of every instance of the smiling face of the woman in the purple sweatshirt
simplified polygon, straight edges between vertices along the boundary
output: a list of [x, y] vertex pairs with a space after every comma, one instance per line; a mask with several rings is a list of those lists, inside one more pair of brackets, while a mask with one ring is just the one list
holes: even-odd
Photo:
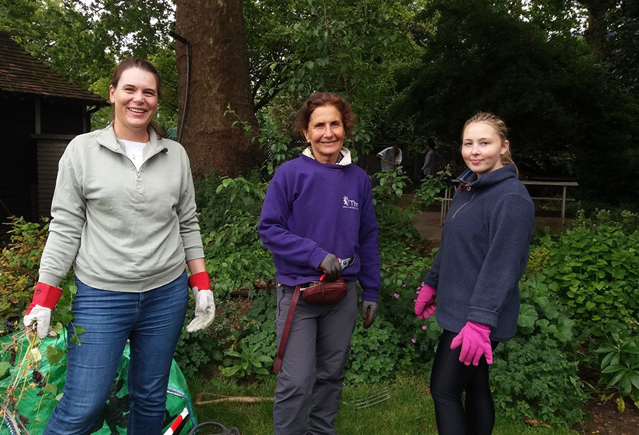
[[334, 105], [323, 105], [311, 113], [309, 125], [302, 131], [311, 143], [313, 157], [318, 162], [336, 164], [344, 145], [342, 113]]

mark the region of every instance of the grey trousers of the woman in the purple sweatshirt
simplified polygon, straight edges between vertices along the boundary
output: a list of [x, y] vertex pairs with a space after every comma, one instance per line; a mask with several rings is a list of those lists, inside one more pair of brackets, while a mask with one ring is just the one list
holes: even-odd
[[[358, 311], [355, 283], [347, 285], [346, 297], [333, 305], [308, 304], [302, 297], [297, 302], [275, 390], [276, 435], [336, 434], [344, 365]], [[278, 345], [293, 290], [278, 285]]]

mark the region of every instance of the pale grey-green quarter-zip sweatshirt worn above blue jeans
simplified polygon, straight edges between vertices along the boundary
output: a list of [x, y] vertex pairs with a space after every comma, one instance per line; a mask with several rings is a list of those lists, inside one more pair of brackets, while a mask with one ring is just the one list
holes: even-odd
[[69, 143], [58, 165], [42, 283], [57, 287], [73, 264], [91, 287], [145, 292], [204, 257], [186, 151], [153, 129], [149, 136], [139, 171], [111, 126]]

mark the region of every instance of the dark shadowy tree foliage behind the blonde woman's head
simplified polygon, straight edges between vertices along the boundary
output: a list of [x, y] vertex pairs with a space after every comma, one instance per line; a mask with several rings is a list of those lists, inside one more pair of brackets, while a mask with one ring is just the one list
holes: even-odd
[[[636, 93], [619, 89], [573, 34], [570, 2], [534, 3], [428, 2], [418, 18], [434, 22], [435, 31], [421, 63], [396, 74], [403, 98], [392, 105], [395, 119], [408, 119], [415, 134], [448, 144], [447, 152], [440, 150], [444, 158], [459, 160], [465, 120], [479, 110], [494, 112], [510, 129], [523, 173], [576, 178], [583, 198], [632, 204], [639, 162], [632, 140], [639, 129]], [[605, 148], [609, 143], [614, 150]]]

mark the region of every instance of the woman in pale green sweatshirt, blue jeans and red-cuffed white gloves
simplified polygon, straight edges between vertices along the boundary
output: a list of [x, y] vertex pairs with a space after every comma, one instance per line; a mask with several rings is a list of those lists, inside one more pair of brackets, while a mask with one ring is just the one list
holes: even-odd
[[[113, 121], [77, 136], [60, 159], [39, 283], [24, 319], [55, 336], [51, 309], [73, 266], [72, 303], [81, 345], [67, 328], [67, 380], [44, 434], [88, 434], [100, 415], [130, 342], [129, 434], [160, 434], [169, 369], [186, 315], [193, 332], [210, 325], [215, 305], [195, 215], [191, 167], [179, 143], [152, 124], [160, 78], [128, 58], [110, 86]], [[185, 264], [191, 271], [186, 277]]]

